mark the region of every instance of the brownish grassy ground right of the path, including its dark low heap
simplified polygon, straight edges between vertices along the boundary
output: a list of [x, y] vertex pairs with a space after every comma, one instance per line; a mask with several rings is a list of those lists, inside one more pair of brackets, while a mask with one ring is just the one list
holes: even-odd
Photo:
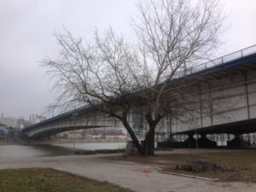
[[[256, 150], [183, 149], [179, 151], [183, 153], [162, 153], [154, 157], [115, 156], [110, 159], [159, 165], [160, 171], [189, 177], [256, 183]], [[210, 166], [202, 166], [203, 163]], [[194, 165], [194, 169], [191, 165]], [[210, 170], [213, 168], [215, 170]]]

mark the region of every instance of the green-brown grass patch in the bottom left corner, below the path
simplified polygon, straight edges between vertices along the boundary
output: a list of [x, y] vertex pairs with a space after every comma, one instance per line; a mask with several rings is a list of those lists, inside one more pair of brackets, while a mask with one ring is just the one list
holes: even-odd
[[53, 169], [0, 170], [1, 192], [132, 192], [117, 185], [98, 182]]

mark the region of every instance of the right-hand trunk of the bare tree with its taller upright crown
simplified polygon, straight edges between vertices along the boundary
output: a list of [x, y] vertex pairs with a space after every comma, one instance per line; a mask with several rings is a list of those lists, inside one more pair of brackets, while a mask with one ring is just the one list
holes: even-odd
[[181, 103], [183, 85], [170, 82], [212, 53], [223, 19], [218, 1], [199, 1], [192, 6], [186, 0], [149, 0], [139, 6], [139, 13], [140, 20], [134, 20], [133, 26], [145, 69], [147, 89], [140, 91], [140, 96], [149, 125], [143, 151], [153, 155], [155, 125], [167, 113], [188, 110]]

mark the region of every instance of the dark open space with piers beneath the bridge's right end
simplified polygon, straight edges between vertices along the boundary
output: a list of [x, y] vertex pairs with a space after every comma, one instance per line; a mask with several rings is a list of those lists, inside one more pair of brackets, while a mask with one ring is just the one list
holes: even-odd
[[255, 133], [256, 118], [176, 132], [171, 143], [174, 148], [255, 148]]

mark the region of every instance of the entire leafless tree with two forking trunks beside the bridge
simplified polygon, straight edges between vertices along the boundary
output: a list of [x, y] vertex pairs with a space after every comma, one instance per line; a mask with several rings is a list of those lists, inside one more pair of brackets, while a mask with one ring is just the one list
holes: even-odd
[[[185, 108], [184, 86], [172, 79], [204, 61], [218, 45], [222, 16], [218, 0], [149, 0], [133, 20], [135, 44], [110, 28], [90, 43], [67, 32], [57, 34], [58, 60], [44, 66], [60, 91], [58, 105], [85, 104], [119, 119], [141, 154], [154, 155], [154, 130], [167, 114]], [[133, 106], [143, 106], [149, 130], [140, 143], [127, 120]]]

